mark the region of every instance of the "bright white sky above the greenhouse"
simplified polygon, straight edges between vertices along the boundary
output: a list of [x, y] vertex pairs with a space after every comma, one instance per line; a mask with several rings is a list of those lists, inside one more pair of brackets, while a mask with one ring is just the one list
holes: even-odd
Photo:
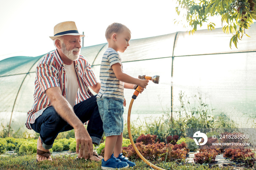
[[1, 0], [0, 60], [54, 50], [49, 36], [64, 21], [74, 21], [79, 33], [84, 32], [84, 46], [106, 43], [105, 30], [113, 22], [126, 25], [131, 39], [187, 31], [174, 24], [180, 18], [176, 6], [175, 0]]

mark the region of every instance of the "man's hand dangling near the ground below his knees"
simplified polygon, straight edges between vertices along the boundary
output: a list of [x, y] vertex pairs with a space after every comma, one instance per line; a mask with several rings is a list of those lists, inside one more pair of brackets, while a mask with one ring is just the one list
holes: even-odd
[[[78, 154], [78, 158], [88, 159], [89, 155], [92, 158], [93, 142], [84, 125], [83, 124], [81, 125], [81, 124], [79, 124], [78, 127], [74, 128], [75, 139], [76, 139], [76, 153]], [[79, 147], [80, 147], [80, 150], [79, 150]]]

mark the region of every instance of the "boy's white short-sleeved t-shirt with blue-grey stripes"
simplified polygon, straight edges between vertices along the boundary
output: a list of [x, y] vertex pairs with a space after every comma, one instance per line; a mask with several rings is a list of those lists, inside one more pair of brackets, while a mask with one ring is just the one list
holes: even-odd
[[123, 70], [123, 65], [119, 54], [112, 48], [108, 48], [103, 54], [99, 79], [101, 89], [97, 97], [108, 97], [124, 99], [124, 82], [119, 81], [113, 72], [112, 65], [119, 63]]

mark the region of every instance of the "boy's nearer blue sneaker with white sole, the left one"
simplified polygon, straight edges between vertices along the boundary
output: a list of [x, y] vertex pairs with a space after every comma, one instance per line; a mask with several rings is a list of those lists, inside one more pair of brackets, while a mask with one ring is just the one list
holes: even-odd
[[111, 158], [108, 159], [108, 161], [101, 159], [101, 169], [121, 169], [126, 167], [129, 167], [128, 163], [120, 161], [114, 157], [114, 154], [111, 155]]

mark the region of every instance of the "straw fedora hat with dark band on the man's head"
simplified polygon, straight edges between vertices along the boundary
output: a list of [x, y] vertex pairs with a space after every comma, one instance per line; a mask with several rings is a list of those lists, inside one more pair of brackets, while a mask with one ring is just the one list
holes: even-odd
[[55, 38], [63, 35], [80, 35], [80, 37], [84, 36], [82, 34], [79, 34], [76, 28], [76, 24], [73, 21], [65, 21], [57, 24], [54, 27], [54, 36], [49, 37], [50, 39], [54, 40]]

